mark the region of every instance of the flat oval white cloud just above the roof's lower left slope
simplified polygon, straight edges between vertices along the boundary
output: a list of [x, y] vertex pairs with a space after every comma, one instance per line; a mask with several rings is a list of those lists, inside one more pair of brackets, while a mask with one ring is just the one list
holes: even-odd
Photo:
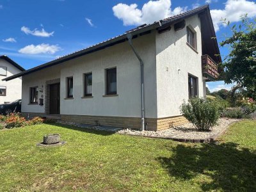
[[40, 44], [40, 45], [28, 45], [19, 50], [23, 54], [54, 54], [60, 51], [61, 47], [58, 45]]

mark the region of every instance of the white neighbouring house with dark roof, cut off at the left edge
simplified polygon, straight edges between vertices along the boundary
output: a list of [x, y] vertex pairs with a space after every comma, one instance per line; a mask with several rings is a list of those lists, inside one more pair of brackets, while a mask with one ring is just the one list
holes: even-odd
[[22, 77], [12, 81], [2, 81], [6, 77], [23, 72], [25, 69], [20, 67], [8, 56], [0, 56], [0, 104], [13, 102], [21, 99]]

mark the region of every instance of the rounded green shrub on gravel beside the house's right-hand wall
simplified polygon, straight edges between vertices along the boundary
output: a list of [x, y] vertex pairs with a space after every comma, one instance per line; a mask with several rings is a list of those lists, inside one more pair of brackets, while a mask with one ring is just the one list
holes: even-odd
[[188, 103], [183, 102], [180, 112], [195, 125], [198, 131], [209, 131], [217, 124], [220, 117], [218, 106], [214, 101], [199, 98], [189, 99]]

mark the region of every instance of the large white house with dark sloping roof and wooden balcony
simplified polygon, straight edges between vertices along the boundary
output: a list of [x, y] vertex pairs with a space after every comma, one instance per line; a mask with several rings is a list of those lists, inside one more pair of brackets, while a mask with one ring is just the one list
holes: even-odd
[[186, 122], [182, 102], [205, 97], [205, 81], [218, 76], [220, 51], [212, 37], [205, 5], [5, 80], [22, 76], [24, 116], [60, 114], [83, 124], [167, 129]]

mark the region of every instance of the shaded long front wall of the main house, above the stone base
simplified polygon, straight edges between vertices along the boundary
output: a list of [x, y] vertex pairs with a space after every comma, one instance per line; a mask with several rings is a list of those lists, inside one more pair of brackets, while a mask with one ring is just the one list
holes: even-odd
[[[155, 33], [152, 32], [133, 40], [135, 49], [145, 62], [145, 115], [148, 118], [157, 116], [155, 38]], [[44, 113], [44, 106], [28, 104], [29, 87], [40, 87], [47, 80], [60, 78], [60, 113], [63, 115], [141, 116], [140, 62], [128, 42], [66, 61], [57, 66], [24, 76], [22, 112]], [[111, 67], [116, 67], [118, 96], [102, 97], [105, 93], [104, 70]], [[92, 72], [93, 98], [82, 99], [83, 74], [87, 72]], [[66, 77], [69, 76], [74, 78], [74, 99], [65, 99]], [[39, 95], [44, 97], [44, 94]]]

